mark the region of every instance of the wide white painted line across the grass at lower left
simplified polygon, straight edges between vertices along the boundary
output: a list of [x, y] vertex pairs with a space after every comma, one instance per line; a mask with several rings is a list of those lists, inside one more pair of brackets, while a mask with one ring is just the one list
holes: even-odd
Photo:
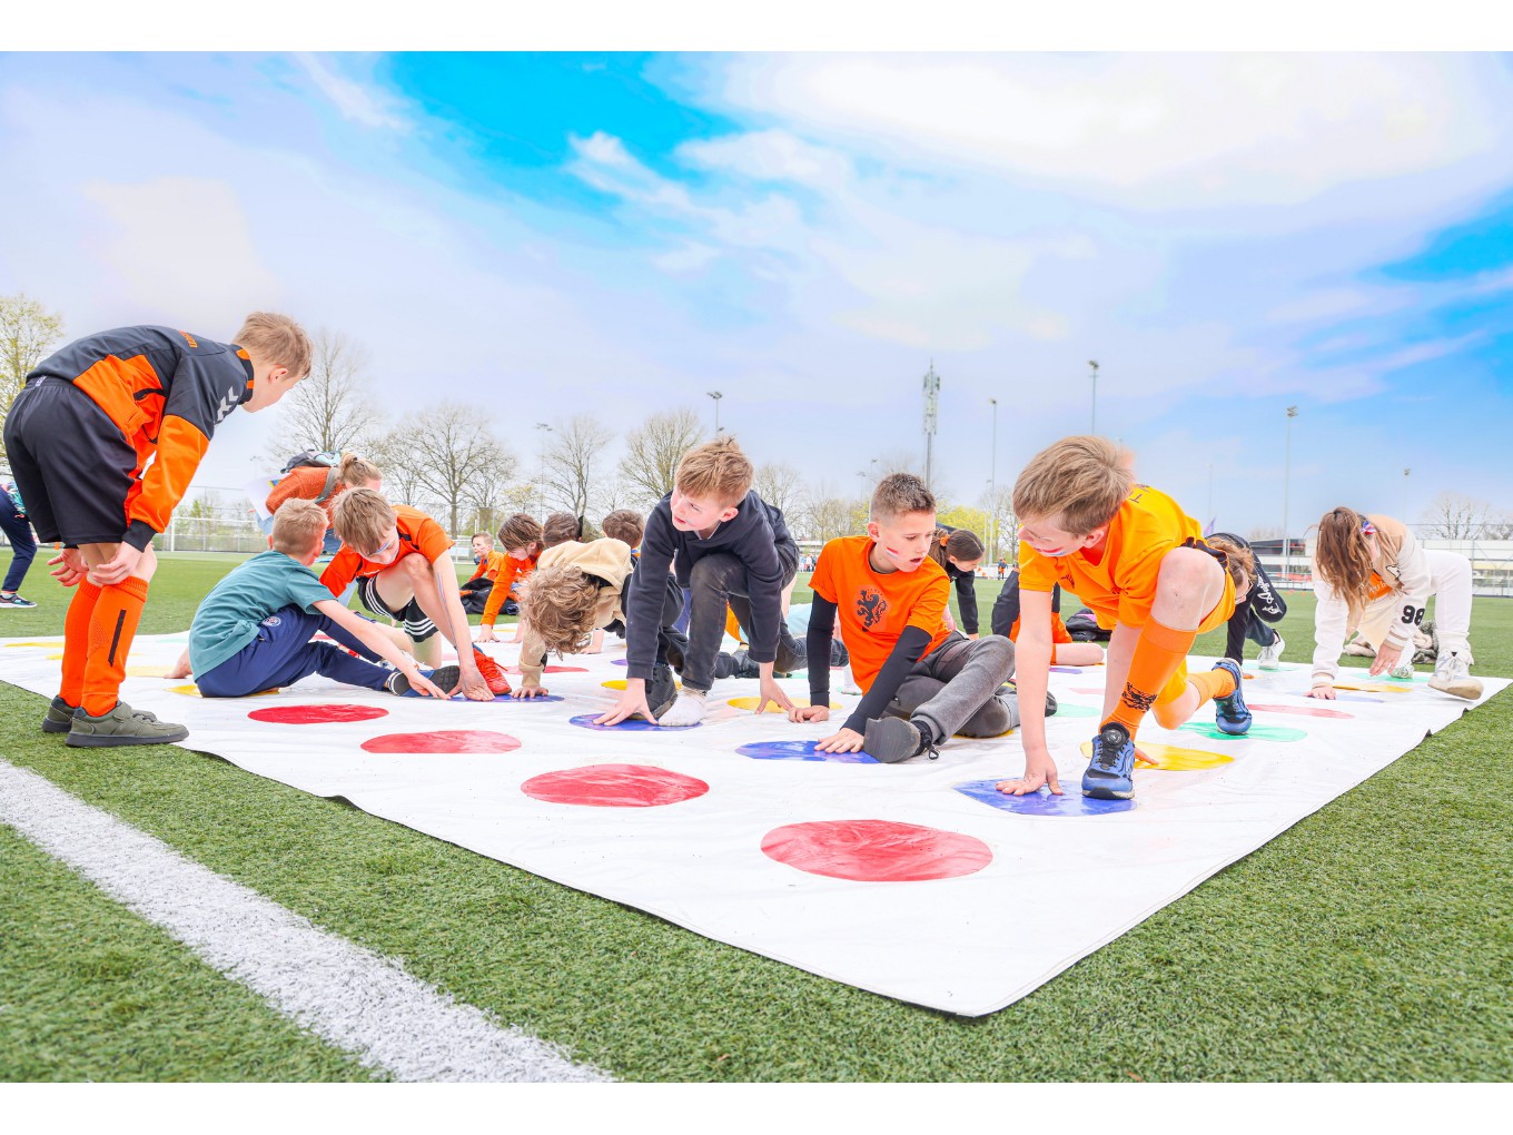
[[278, 1012], [396, 1081], [610, 1079], [3, 758], [0, 823], [162, 926]]

